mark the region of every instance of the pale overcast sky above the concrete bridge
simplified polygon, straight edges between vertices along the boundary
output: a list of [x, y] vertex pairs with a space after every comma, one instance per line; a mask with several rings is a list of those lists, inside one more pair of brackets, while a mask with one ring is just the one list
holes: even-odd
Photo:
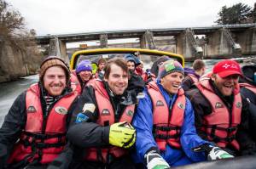
[[214, 25], [226, 5], [253, 0], [6, 0], [38, 35]]

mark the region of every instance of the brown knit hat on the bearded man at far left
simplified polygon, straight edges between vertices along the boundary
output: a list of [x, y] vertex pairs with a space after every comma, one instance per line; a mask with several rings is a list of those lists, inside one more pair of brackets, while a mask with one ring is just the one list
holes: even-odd
[[46, 59], [44, 59], [44, 61], [40, 65], [39, 80], [41, 82], [43, 82], [45, 71], [48, 70], [50, 67], [53, 67], [56, 65], [61, 66], [61, 68], [63, 68], [63, 70], [65, 70], [67, 82], [68, 82], [68, 80], [70, 78], [70, 71], [69, 71], [68, 65], [63, 59], [61, 59], [60, 57], [57, 57], [57, 56], [49, 56]]

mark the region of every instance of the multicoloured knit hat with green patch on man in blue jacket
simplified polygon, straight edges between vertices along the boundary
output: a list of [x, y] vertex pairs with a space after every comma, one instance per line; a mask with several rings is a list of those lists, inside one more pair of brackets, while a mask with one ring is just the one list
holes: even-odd
[[173, 73], [180, 72], [184, 75], [183, 66], [176, 60], [167, 60], [162, 65], [160, 65], [158, 77], [163, 78], [164, 76]]

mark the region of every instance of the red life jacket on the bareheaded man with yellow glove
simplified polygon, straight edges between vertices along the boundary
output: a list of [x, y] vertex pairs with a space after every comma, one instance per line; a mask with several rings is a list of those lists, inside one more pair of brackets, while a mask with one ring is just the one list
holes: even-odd
[[[109, 100], [108, 92], [105, 89], [103, 82], [99, 80], [94, 80], [90, 83], [95, 89], [96, 102], [98, 103], [99, 117], [97, 124], [103, 126], [110, 126], [114, 121], [114, 110], [112, 104]], [[135, 104], [128, 105], [122, 116], [119, 119], [121, 121], [127, 121], [131, 123], [133, 114], [135, 110]], [[86, 161], [102, 161], [106, 163], [108, 161], [108, 155], [113, 155], [115, 158], [119, 158], [122, 155], [128, 153], [127, 149], [119, 148], [116, 146], [109, 146], [108, 148], [90, 148], [86, 149], [85, 160]]]

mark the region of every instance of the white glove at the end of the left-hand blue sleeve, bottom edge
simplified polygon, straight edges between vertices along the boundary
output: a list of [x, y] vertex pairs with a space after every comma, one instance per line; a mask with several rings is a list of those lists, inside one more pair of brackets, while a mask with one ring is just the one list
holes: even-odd
[[157, 152], [148, 152], [145, 155], [148, 169], [170, 168], [169, 164]]

